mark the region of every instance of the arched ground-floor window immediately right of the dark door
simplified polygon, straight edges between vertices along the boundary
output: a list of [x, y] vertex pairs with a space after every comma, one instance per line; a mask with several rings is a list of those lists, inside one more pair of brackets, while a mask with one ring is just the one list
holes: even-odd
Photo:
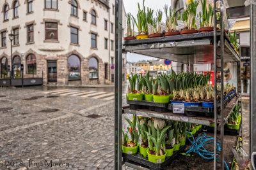
[[68, 80], [80, 80], [80, 59], [77, 55], [68, 57]]

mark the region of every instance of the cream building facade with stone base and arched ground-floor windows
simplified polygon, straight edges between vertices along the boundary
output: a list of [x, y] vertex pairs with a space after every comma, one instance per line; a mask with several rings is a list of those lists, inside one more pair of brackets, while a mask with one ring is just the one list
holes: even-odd
[[[114, 77], [114, 0], [0, 1], [0, 71], [13, 77], [43, 78], [44, 84], [110, 83]], [[123, 8], [125, 27], [125, 10]], [[126, 55], [123, 55], [124, 74]]]

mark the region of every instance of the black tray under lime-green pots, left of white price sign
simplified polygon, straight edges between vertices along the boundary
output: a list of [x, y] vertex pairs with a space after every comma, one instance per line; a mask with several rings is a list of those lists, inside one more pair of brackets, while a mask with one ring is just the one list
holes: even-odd
[[163, 113], [167, 111], [168, 103], [156, 103], [152, 101], [131, 101], [127, 100], [127, 104], [130, 104], [130, 109], [138, 110], [147, 108], [152, 111]]

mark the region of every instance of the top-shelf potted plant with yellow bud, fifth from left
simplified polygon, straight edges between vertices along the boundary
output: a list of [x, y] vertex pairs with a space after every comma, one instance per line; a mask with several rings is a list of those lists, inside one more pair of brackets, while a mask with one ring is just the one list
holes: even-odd
[[186, 3], [186, 10], [182, 13], [182, 20], [184, 22], [184, 29], [180, 31], [180, 34], [193, 34], [197, 33], [196, 29], [196, 8], [198, 6], [199, 1], [189, 0]]

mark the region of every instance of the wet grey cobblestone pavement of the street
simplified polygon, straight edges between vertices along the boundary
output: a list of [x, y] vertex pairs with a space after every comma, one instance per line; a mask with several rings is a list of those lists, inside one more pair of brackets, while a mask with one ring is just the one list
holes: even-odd
[[[0, 89], [0, 169], [113, 169], [113, 104], [36, 88]], [[247, 122], [248, 103], [243, 110]], [[247, 147], [248, 124], [243, 135]]]

